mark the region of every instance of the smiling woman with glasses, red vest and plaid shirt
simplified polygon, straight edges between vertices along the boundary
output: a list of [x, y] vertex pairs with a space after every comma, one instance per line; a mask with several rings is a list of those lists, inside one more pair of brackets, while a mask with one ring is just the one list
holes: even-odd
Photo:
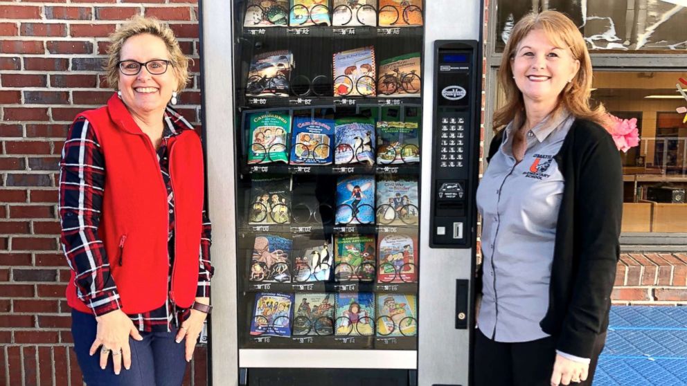
[[66, 297], [87, 385], [181, 385], [211, 311], [201, 141], [168, 104], [188, 82], [172, 30], [135, 17], [110, 37], [116, 93], [62, 150]]

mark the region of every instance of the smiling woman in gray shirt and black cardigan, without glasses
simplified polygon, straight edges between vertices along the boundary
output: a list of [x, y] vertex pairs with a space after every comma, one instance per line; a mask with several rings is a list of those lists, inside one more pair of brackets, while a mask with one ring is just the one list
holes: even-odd
[[499, 71], [508, 102], [477, 190], [475, 385], [591, 385], [620, 250], [621, 159], [566, 16], [518, 21]]

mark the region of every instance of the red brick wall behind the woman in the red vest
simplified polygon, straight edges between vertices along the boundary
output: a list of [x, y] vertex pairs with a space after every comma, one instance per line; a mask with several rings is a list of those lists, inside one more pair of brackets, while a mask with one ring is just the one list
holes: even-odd
[[[199, 121], [194, 0], [0, 1], [0, 385], [81, 385], [71, 351], [69, 268], [60, 252], [57, 173], [69, 123], [112, 91], [100, 66], [124, 19], [168, 20], [196, 59], [179, 107]], [[206, 384], [198, 347], [186, 385]]]

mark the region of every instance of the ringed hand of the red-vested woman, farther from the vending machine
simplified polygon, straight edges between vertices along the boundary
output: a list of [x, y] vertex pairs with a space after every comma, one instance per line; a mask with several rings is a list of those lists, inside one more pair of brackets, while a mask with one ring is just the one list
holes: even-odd
[[89, 353], [91, 356], [100, 348], [100, 368], [107, 367], [107, 358], [112, 354], [114, 362], [114, 374], [119, 375], [122, 369], [131, 368], [131, 348], [129, 347], [129, 336], [135, 340], [143, 340], [143, 337], [134, 327], [134, 322], [121, 310], [112, 311], [105, 315], [96, 317], [98, 322], [98, 332], [96, 340], [93, 341]]

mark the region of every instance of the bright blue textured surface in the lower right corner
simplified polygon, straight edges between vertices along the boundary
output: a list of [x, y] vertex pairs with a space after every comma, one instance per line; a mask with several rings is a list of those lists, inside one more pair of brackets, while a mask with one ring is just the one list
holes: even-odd
[[613, 306], [594, 386], [687, 385], [687, 307]]

